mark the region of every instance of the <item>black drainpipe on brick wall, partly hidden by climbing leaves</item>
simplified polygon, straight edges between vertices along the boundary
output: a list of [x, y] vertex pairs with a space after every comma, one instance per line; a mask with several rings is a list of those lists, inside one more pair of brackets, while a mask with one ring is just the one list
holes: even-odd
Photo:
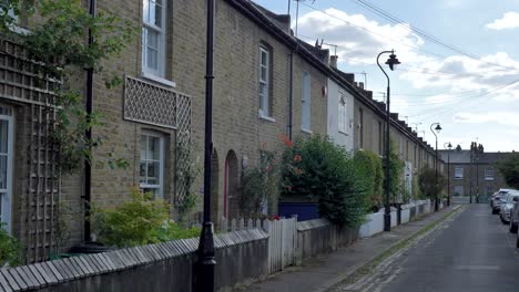
[[[90, 0], [90, 15], [95, 17], [95, 0]], [[93, 43], [92, 30], [89, 29], [89, 45]], [[92, 100], [93, 100], [93, 67], [86, 70], [86, 114], [92, 114]], [[92, 140], [92, 128], [86, 129], [86, 139]], [[92, 200], [92, 165], [89, 159], [84, 160], [84, 241], [90, 241], [91, 226], [90, 226], [90, 202]]]

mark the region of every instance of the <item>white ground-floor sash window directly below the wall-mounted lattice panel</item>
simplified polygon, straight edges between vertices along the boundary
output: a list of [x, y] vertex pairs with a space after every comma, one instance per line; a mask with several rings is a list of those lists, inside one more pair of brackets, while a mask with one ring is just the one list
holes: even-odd
[[164, 136], [156, 133], [141, 135], [140, 186], [143, 191], [164, 198]]

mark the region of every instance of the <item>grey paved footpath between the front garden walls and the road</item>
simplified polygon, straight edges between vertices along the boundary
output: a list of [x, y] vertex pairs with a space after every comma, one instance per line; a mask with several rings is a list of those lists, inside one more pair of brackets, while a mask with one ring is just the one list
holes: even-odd
[[[488, 205], [486, 207], [489, 209]], [[421, 229], [440, 221], [451, 210], [452, 208], [445, 208], [417, 221], [393, 228], [390, 232], [360, 239], [332, 253], [307, 259], [302, 267], [288, 268], [281, 273], [271, 275], [265, 281], [241, 288], [237, 291], [316, 292], [335, 290], [339, 288], [342, 281], [377, 255], [409, 238], [414, 238]], [[490, 211], [488, 213], [490, 215]]]

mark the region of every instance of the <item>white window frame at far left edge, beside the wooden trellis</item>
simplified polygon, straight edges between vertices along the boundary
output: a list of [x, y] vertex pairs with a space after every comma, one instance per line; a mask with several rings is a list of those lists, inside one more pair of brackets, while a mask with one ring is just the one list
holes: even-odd
[[12, 171], [13, 171], [13, 150], [14, 150], [14, 113], [10, 106], [1, 105], [0, 108], [6, 108], [9, 114], [0, 114], [0, 119], [8, 122], [8, 145], [7, 145], [7, 167], [6, 167], [6, 198], [1, 197], [1, 222], [6, 223], [6, 230], [11, 233], [12, 221]]

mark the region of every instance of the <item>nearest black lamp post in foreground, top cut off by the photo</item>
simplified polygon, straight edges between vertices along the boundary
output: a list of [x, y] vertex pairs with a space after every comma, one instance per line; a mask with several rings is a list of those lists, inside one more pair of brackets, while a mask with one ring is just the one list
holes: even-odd
[[204, 223], [195, 263], [194, 291], [214, 291], [214, 230], [211, 222], [211, 176], [213, 156], [213, 43], [214, 0], [207, 0], [207, 39], [205, 63], [205, 142], [204, 142]]

